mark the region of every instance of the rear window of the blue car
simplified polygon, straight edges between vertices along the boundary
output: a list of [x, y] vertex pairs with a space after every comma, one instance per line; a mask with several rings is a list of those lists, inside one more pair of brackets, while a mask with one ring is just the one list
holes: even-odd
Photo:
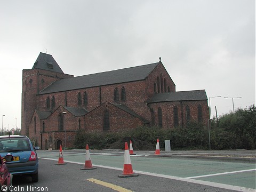
[[11, 151], [30, 150], [29, 141], [26, 138], [1, 138], [0, 153]]

